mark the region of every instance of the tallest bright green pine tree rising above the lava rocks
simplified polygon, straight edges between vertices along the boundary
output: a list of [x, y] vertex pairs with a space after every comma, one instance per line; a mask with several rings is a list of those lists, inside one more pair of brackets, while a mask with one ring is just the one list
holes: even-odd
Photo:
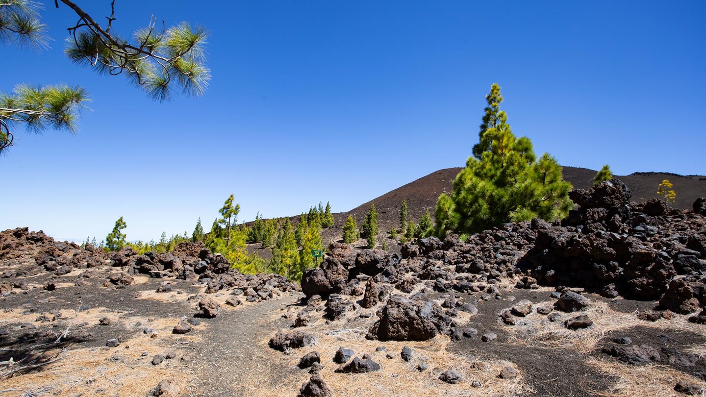
[[453, 182], [450, 196], [436, 203], [436, 232], [479, 232], [502, 223], [566, 217], [573, 206], [571, 184], [549, 154], [539, 160], [527, 137], [515, 138], [500, 110], [503, 97], [493, 84], [481, 124], [480, 142]]

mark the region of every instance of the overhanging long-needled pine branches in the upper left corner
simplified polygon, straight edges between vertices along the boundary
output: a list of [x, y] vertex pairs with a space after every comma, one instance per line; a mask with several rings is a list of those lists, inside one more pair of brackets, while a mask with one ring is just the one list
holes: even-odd
[[[204, 28], [186, 22], [164, 28], [152, 16], [148, 26], [123, 37], [113, 26], [117, 19], [115, 1], [103, 25], [73, 1], [57, 0], [57, 8], [59, 3], [78, 16], [78, 21], [67, 29], [64, 50], [74, 63], [100, 74], [124, 74], [131, 84], [160, 102], [168, 100], [175, 90], [202, 95], [208, 87], [208, 31]], [[48, 49], [47, 25], [40, 16], [42, 8], [32, 0], [0, 1], [0, 43]], [[13, 93], [0, 92], [0, 154], [13, 145], [13, 131], [20, 124], [32, 132], [49, 128], [75, 132], [85, 102], [88, 93], [84, 88], [66, 84], [21, 84]]]

